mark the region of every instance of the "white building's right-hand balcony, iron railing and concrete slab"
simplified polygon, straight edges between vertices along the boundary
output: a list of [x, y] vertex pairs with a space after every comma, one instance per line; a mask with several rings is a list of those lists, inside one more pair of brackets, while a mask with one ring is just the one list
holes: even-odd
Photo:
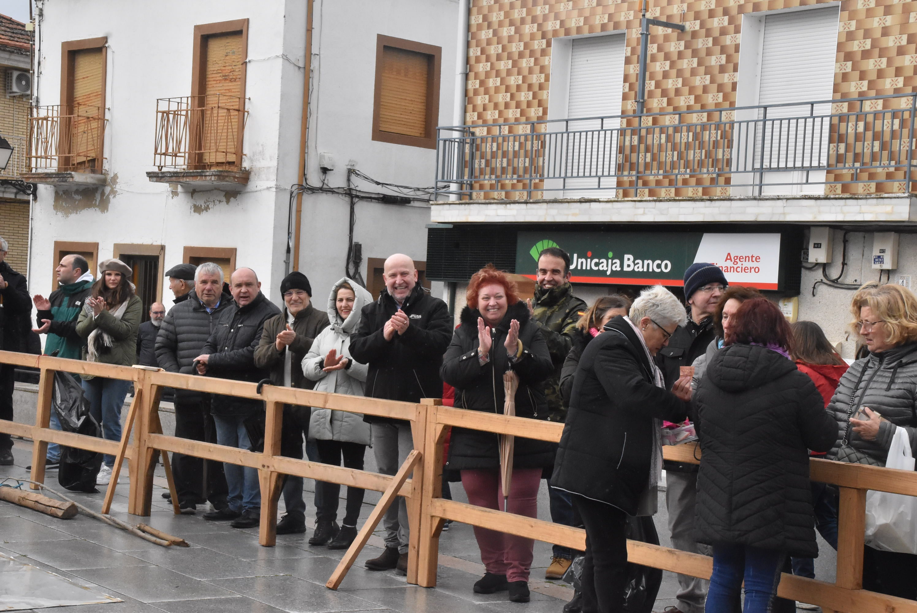
[[153, 165], [156, 183], [196, 189], [236, 189], [249, 183], [242, 167], [245, 99], [234, 95], [186, 95], [156, 101]]

